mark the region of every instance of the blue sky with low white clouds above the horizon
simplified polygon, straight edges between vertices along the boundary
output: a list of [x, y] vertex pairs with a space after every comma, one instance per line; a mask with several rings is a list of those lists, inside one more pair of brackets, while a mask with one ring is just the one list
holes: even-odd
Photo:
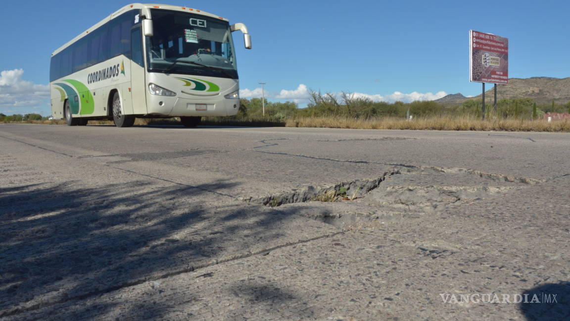
[[[85, 3], [85, 4], [83, 4]], [[88, 4], [89, 3], [89, 4]], [[307, 90], [375, 101], [478, 95], [469, 30], [509, 38], [509, 77], [570, 77], [568, 1], [204, 1], [189, 6], [249, 28], [234, 33], [242, 98], [307, 102]], [[0, 113], [50, 114], [52, 51], [128, 2], [26, 1], [0, 19]], [[488, 85], [491, 86], [491, 85]]]

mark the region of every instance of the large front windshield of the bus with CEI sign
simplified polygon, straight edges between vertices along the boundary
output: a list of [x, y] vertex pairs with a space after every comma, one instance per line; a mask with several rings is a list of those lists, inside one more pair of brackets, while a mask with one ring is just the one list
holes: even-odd
[[153, 36], [146, 37], [148, 71], [238, 78], [230, 27], [202, 15], [153, 10]]

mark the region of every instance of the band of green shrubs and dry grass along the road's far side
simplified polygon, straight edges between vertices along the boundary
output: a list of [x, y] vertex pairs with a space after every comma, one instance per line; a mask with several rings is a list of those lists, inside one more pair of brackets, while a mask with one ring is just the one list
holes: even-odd
[[[233, 117], [206, 117], [202, 125], [221, 126], [287, 126], [329, 127], [347, 129], [413, 129], [413, 130], [504, 130], [504, 131], [570, 131], [570, 119], [548, 122], [545, 113], [569, 113], [570, 102], [537, 104], [531, 98], [501, 99], [494, 110], [486, 103], [482, 120], [480, 99], [461, 105], [446, 106], [433, 101], [373, 102], [351, 93], [340, 96], [311, 91], [307, 108], [295, 102], [268, 102], [260, 98], [241, 99], [238, 114]], [[410, 119], [410, 116], [412, 119]], [[63, 125], [63, 119], [48, 119], [39, 114], [4, 115], [4, 123], [41, 123]], [[111, 121], [90, 124], [112, 125]], [[135, 125], [178, 125], [174, 119], [137, 119]]]

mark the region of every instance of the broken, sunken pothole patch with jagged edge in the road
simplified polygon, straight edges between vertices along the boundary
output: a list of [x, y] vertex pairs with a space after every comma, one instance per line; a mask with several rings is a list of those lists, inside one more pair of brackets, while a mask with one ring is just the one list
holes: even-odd
[[526, 184], [522, 180], [500, 179], [499, 176], [469, 171], [394, 168], [376, 179], [308, 186], [247, 201], [346, 228], [377, 220], [437, 214], [466, 202], [496, 197]]

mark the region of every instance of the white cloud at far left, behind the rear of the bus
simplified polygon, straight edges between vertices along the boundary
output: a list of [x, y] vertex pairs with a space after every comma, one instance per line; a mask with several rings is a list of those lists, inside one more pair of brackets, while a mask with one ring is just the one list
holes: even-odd
[[38, 85], [22, 79], [23, 69], [4, 70], [0, 73], [0, 106], [45, 105], [50, 98], [50, 86]]

